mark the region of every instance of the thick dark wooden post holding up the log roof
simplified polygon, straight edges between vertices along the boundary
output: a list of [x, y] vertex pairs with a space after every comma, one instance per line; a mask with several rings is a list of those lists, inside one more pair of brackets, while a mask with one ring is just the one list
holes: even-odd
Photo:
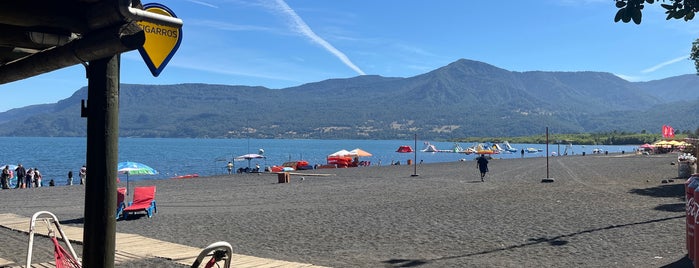
[[83, 266], [114, 267], [120, 56], [90, 61]]

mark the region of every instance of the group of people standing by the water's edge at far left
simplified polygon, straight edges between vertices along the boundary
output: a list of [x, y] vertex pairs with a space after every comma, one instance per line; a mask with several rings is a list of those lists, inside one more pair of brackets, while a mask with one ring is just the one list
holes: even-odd
[[[85, 184], [85, 179], [87, 178], [87, 168], [85, 166], [80, 168], [79, 176], [80, 184]], [[14, 185], [11, 185], [13, 178], [17, 178], [17, 182]], [[2, 173], [0, 173], [0, 185], [2, 186], [2, 189], [41, 187], [43, 186], [42, 180], [43, 175], [38, 168], [26, 169], [22, 164], [18, 164], [14, 170], [10, 169], [10, 166], [7, 165], [2, 169]], [[68, 171], [67, 185], [72, 184], [73, 171]], [[49, 186], [56, 186], [53, 179], [49, 181]]]

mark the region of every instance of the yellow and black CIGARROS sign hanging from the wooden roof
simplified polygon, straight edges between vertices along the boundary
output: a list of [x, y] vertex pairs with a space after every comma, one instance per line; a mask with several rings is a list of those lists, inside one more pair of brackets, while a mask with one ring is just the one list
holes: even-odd
[[[177, 18], [172, 10], [157, 3], [144, 4], [143, 10]], [[138, 49], [138, 52], [141, 53], [141, 57], [143, 57], [153, 76], [157, 77], [180, 47], [182, 28], [146, 21], [139, 21], [138, 25], [141, 26], [146, 34], [146, 42], [143, 44], [143, 47]]]

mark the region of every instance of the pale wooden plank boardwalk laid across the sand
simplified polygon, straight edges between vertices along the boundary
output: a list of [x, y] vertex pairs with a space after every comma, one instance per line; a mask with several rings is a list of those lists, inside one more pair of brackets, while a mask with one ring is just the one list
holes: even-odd
[[[23, 217], [15, 214], [5, 213], [0, 214], [0, 226], [24, 232], [29, 234], [29, 221], [30, 218]], [[83, 229], [73, 226], [61, 225], [61, 229], [66, 234], [71, 243], [82, 244], [83, 242]], [[41, 235], [48, 237], [47, 228], [36, 228], [35, 235]], [[57, 234], [58, 235], [58, 234]], [[60, 235], [58, 235], [60, 240]], [[66, 249], [67, 250], [67, 249]], [[117, 233], [116, 234], [116, 252], [114, 256], [115, 263], [125, 263], [133, 260], [144, 259], [144, 258], [163, 258], [166, 260], [171, 260], [173, 262], [183, 264], [186, 266], [192, 265], [196, 260], [199, 253], [202, 251], [200, 248], [160, 241], [157, 239], [152, 239], [136, 234], [127, 233]], [[80, 254], [78, 254], [80, 255]], [[26, 257], [26, 256], [24, 256]], [[208, 260], [204, 260], [206, 262]], [[0, 257], [0, 267], [21, 267], [23, 264], [17, 264], [13, 261], [4, 259]], [[279, 261], [272, 259], [265, 259], [253, 256], [246, 256], [240, 254], [233, 254], [231, 258], [232, 267], [251, 267], [251, 268], [261, 268], [261, 267], [278, 267], [278, 268], [321, 268], [322, 266], [317, 266], [307, 263], [297, 263], [288, 261]], [[38, 263], [32, 264], [32, 267], [55, 267], [53, 263]]]

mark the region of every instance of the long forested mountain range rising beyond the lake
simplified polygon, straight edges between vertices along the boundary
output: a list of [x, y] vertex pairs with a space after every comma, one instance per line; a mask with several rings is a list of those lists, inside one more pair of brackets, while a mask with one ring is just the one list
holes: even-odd
[[[694, 79], [694, 80], [693, 80]], [[628, 82], [603, 72], [512, 72], [460, 59], [421, 75], [365, 75], [284, 89], [210, 84], [120, 89], [124, 137], [423, 139], [693, 130], [696, 76]], [[681, 87], [681, 88], [677, 88]], [[668, 89], [679, 97], [669, 97]], [[0, 113], [2, 136], [84, 136], [87, 88]], [[89, 101], [88, 101], [89, 105]], [[680, 116], [680, 115], [688, 116]]]

